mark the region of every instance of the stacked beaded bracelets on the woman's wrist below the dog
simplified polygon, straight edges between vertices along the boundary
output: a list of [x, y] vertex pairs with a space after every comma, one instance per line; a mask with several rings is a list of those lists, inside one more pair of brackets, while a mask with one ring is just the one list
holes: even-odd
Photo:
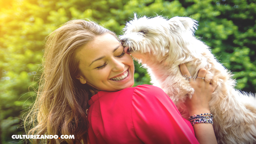
[[204, 113], [200, 115], [193, 115], [190, 116], [188, 119], [192, 125], [198, 124], [198, 123], [210, 123], [213, 124], [213, 118], [214, 116], [210, 113]]

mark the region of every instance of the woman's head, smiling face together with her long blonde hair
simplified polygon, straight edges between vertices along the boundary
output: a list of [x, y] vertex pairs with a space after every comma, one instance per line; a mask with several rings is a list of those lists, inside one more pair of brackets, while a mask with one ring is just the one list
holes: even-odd
[[[102, 43], [104, 39], [107, 41]], [[132, 86], [132, 58], [124, 54], [115, 33], [85, 20], [69, 21], [56, 29], [47, 37], [45, 51], [37, 100], [24, 119], [27, 135], [72, 134], [75, 139], [46, 139], [42, 143], [86, 144], [89, 99], [103, 88], [107, 90], [105, 84], [110, 90], [120, 90], [122, 87], [115, 88], [119, 84], [110, 78], [126, 71]], [[31, 141], [38, 144], [40, 139]]]

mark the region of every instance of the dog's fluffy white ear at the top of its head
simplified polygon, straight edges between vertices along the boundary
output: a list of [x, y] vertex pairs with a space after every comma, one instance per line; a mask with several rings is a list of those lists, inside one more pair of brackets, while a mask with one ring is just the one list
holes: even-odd
[[192, 33], [197, 30], [197, 21], [190, 17], [173, 17], [169, 19], [170, 26], [175, 29], [178, 26], [182, 31], [192, 31]]

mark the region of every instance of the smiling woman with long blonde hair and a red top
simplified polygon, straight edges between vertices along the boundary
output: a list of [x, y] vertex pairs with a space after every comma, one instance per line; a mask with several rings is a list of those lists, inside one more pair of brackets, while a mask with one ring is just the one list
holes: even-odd
[[[27, 135], [74, 135], [74, 139], [31, 139], [47, 144], [216, 144], [210, 123], [183, 119], [171, 99], [152, 85], [134, 84], [132, 57], [116, 34], [85, 20], [72, 20], [47, 38], [37, 100], [25, 125]], [[186, 101], [190, 114], [211, 117], [215, 87], [193, 80]], [[204, 77], [205, 69], [198, 77]], [[192, 126], [193, 125], [193, 126]]]

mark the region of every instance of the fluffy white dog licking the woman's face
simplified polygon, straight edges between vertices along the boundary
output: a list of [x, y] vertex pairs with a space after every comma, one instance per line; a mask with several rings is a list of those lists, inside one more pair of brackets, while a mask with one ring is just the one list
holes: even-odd
[[141, 17], [127, 23], [120, 35], [125, 51], [148, 70], [152, 83], [161, 87], [188, 118], [183, 104], [193, 89], [183, 78], [179, 65], [186, 63], [192, 78], [206, 68], [206, 81], [218, 85], [212, 93], [210, 111], [219, 144], [256, 144], [256, 98], [234, 89], [236, 81], [210, 48], [194, 36], [197, 21], [189, 17], [165, 19]]

